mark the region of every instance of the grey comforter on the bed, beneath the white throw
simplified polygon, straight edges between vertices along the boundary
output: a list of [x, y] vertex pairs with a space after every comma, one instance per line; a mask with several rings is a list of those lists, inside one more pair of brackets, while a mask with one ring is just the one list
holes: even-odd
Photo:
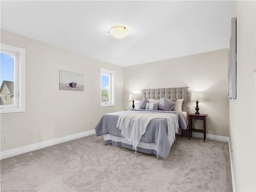
[[[129, 113], [172, 113], [176, 115], [179, 120], [179, 128], [186, 129], [187, 124], [184, 114], [178, 111], [157, 111], [157, 110], [143, 110], [132, 109], [127, 111], [118, 111], [114, 113], [107, 113], [102, 116], [98, 125], [95, 127], [96, 135], [111, 134], [121, 137], [121, 130], [116, 128], [118, 117], [121, 114]], [[146, 132], [142, 135], [141, 140], [146, 143], [156, 143], [158, 146], [157, 155], [166, 159], [170, 151], [170, 143], [167, 137], [167, 122], [164, 118], [155, 118], [148, 124]], [[139, 150], [137, 150], [139, 151]]]

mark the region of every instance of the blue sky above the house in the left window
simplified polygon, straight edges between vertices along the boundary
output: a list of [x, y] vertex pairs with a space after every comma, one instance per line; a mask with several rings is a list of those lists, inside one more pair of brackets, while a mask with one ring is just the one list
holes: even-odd
[[14, 56], [0, 53], [0, 85], [14, 79]]

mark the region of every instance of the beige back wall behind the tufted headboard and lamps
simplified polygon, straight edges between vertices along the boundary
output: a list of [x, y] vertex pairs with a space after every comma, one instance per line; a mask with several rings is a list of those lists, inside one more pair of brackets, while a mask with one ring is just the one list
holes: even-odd
[[[207, 133], [229, 136], [227, 99], [228, 50], [202, 53], [124, 68], [124, 108], [131, 106], [129, 93], [144, 88], [189, 87], [204, 91], [200, 112], [207, 113]], [[190, 112], [196, 104], [191, 102]], [[198, 127], [202, 125], [197, 124]]]

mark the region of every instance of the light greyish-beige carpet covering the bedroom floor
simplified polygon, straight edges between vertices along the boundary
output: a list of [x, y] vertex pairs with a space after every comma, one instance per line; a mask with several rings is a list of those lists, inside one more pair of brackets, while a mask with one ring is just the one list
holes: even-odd
[[1, 188], [231, 191], [228, 143], [177, 136], [164, 161], [92, 135], [1, 160]]

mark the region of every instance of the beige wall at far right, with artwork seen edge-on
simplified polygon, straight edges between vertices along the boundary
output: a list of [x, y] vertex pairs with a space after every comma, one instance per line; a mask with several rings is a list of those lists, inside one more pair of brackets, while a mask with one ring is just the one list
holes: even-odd
[[255, 2], [234, 2], [237, 99], [230, 100], [230, 142], [237, 191], [256, 191]]

